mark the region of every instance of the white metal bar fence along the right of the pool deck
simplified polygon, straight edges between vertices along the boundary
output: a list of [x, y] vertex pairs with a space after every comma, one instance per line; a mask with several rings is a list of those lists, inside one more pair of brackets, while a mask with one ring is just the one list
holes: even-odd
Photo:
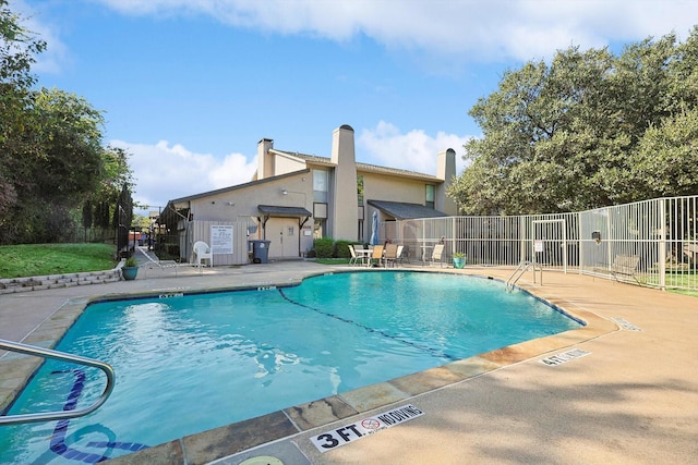
[[387, 221], [382, 238], [426, 260], [440, 242], [468, 265], [575, 271], [658, 287], [698, 290], [698, 196], [659, 198], [594, 210], [519, 217]]

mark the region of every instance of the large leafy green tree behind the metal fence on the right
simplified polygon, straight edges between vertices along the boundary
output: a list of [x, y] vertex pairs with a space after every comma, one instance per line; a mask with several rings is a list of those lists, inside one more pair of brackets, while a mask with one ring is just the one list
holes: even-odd
[[698, 193], [696, 57], [698, 28], [678, 46], [571, 47], [507, 71], [469, 112], [483, 137], [466, 145], [449, 195], [465, 213], [512, 215]]

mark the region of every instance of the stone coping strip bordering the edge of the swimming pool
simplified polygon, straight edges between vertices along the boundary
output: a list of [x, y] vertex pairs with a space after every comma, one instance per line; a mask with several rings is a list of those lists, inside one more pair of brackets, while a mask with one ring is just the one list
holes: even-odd
[[[284, 281], [264, 286], [226, 285], [201, 290], [188, 289], [185, 294], [215, 293], [225, 291], [264, 290], [269, 287], [288, 287], [302, 282], [306, 278], [340, 272], [384, 272], [386, 270], [337, 269], [329, 272], [306, 273], [297, 281]], [[410, 272], [460, 273], [453, 269], [401, 269]], [[486, 271], [486, 270], [479, 270]], [[470, 277], [503, 281], [485, 273], [467, 273]], [[335, 394], [309, 403], [294, 405], [267, 415], [234, 423], [231, 425], [185, 436], [172, 441], [154, 445], [149, 449], [122, 455], [110, 460], [110, 463], [181, 463], [205, 464], [234, 455], [246, 450], [286, 438], [302, 435], [314, 428], [347, 420], [368, 412], [387, 408], [398, 402], [406, 402], [414, 396], [425, 394], [448, 386], [460, 383], [482, 376], [486, 372], [504, 368], [527, 359], [542, 357], [555, 351], [563, 351], [581, 342], [618, 331], [618, 326], [595, 313], [580, 308], [575, 304], [551, 294], [544, 286], [520, 283], [516, 287], [528, 292], [542, 302], [563, 310], [575, 319], [583, 321], [582, 328], [562, 333], [533, 339], [506, 347], [497, 348], [472, 357], [453, 362], [424, 371], [371, 384], [341, 394]], [[179, 292], [179, 291], [174, 291]], [[173, 293], [174, 293], [173, 292]], [[65, 331], [80, 317], [82, 311], [96, 302], [144, 298], [154, 295], [166, 295], [154, 291], [112, 293], [93, 297], [73, 298], [60, 306], [47, 320], [23, 341], [26, 344], [41, 347], [53, 347]], [[8, 354], [0, 358], [3, 381], [0, 386], [0, 409], [4, 411], [12, 400], [22, 391], [36, 368], [41, 364], [37, 357], [20, 354]], [[11, 372], [10, 377], [4, 374]]]

